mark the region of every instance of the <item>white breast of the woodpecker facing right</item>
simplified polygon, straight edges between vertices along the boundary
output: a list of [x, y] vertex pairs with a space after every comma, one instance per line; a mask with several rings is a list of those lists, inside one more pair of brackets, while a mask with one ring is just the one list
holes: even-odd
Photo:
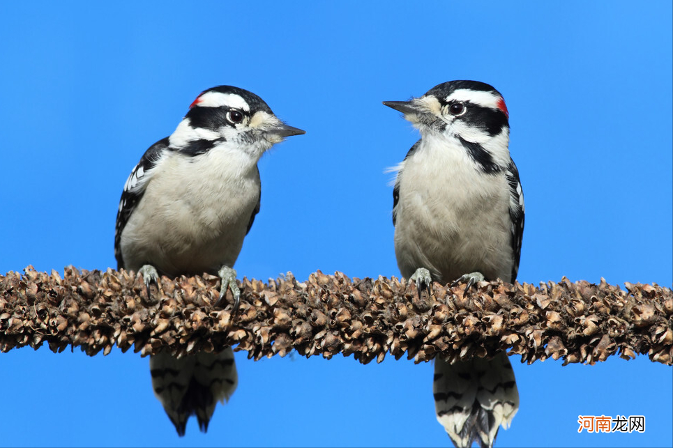
[[259, 199], [257, 160], [220, 144], [204, 155], [166, 152], [121, 235], [126, 268], [216, 273], [239, 256]]

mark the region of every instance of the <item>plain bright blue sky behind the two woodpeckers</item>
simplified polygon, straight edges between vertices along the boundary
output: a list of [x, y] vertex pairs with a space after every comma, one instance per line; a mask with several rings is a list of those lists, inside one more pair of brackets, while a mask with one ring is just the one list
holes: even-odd
[[[475, 79], [510, 111], [519, 280], [670, 287], [672, 3], [418, 3], [0, 3], [0, 272], [114, 267], [130, 169], [199, 92], [232, 84], [307, 130], [259, 163], [239, 277], [398, 276], [384, 169], [418, 134], [381, 101]], [[0, 445], [451, 446], [430, 363], [245, 355], [209, 433], [192, 420], [178, 438], [148, 358], [1, 354]], [[670, 367], [511, 361], [521, 407], [497, 446], [671, 445]], [[577, 433], [578, 415], [644, 415], [646, 431]]]

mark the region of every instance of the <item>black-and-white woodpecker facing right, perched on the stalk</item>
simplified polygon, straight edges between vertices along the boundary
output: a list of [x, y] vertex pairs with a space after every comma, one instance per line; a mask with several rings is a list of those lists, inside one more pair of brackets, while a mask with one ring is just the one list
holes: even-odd
[[[159, 275], [208, 273], [221, 279], [219, 299], [241, 292], [234, 263], [259, 212], [257, 162], [285, 137], [305, 134], [286, 125], [250, 91], [215, 86], [200, 93], [169, 137], [149, 147], [123, 187], [116, 215], [117, 269], [142, 276], [148, 299]], [[215, 405], [238, 384], [231, 347], [219, 353], [150, 357], [153, 391], [179, 436], [196, 415], [208, 430]]]

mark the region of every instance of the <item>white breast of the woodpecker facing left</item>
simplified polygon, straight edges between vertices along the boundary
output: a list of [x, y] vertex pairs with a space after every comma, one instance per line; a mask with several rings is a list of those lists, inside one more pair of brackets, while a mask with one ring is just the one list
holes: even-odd
[[510, 199], [503, 173], [479, 171], [458, 141], [424, 137], [398, 180], [395, 254], [404, 277], [428, 268], [441, 281], [474, 271], [509, 280]]

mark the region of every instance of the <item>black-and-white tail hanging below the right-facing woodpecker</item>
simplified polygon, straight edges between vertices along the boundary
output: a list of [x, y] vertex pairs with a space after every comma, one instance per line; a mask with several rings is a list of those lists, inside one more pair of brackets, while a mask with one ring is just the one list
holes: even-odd
[[215, 405], [229, 401], [238, 384], [231, 347], [181, 358], [158, 353], [149, 358], [149, 367], [154, 394], [180, 436], [190, 415], [196, 415], [201, 431], [208, 431]]

